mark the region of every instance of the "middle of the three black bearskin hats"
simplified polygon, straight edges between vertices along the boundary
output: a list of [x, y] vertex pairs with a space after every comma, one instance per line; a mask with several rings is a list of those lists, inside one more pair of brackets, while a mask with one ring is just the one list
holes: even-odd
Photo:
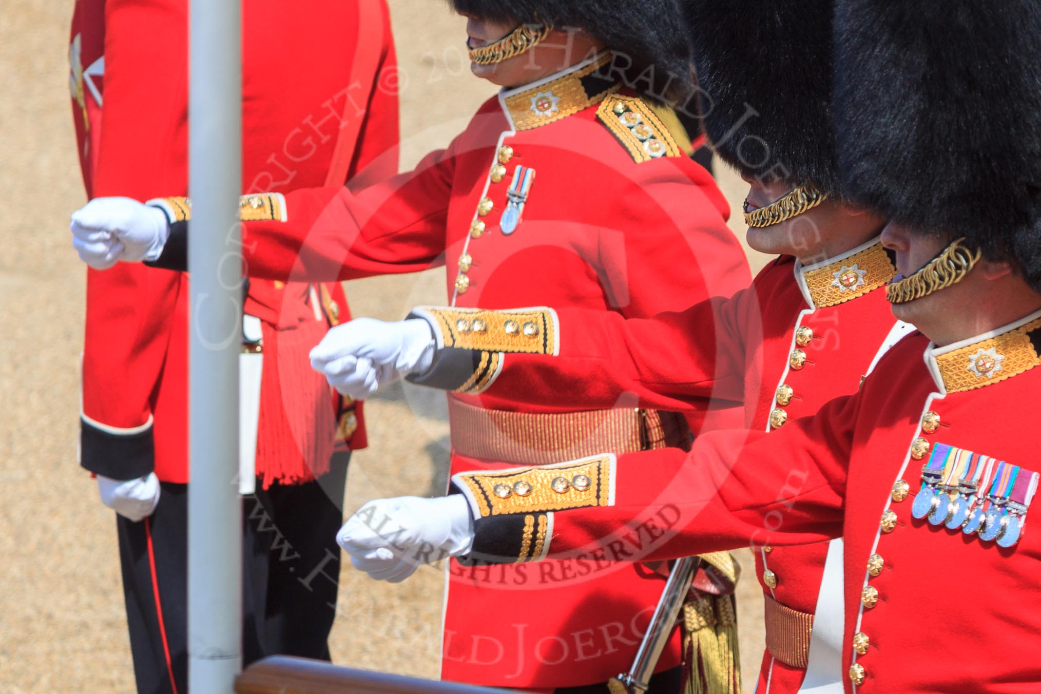
[[842, 198], [832, 121], [834, 0], [687, 3], [705, 132], [750, 178]]

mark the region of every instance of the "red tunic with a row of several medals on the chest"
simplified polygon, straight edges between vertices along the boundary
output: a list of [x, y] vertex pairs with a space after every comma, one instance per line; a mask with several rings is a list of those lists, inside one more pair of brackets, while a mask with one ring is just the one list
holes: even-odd
[[[1002, 546], [966, 533], [960, 518], [945, 524], [942, 511], [934, 522], [912, 510], [922, 466], [936, 459], [954, 485], [950, 495], [936, 495], [938, 508], [947, 508], [941, 497], [958, 496], [958, 481], [975, 461], [981, 494], [993, 491], [1007, 462], [1012, 474], [1000, 478], [998, 495], [1012, 489], [1029, 509], [1041, 466], [1021, 421], [1041, 387], [1039, 345], [1041, 312], [943, 349], [914, 334], [856, 395], [765, 439], [713, 432], [689, 455], [608, 455], [509, 478], [457, 475], [478, 517], [475, 551], [515, 558], [526, 516], [552, 529], [547, 556], [585, 561], [843, 536], [846, 691], [1037, 691], [1041, 534], [1030, 530], [1030, 514], [1018, 544]], [[580, 473], [592, 478], [588, 491], [538, 494], [552, 477]], [[535, 490], [506, 500], [485, 491], [513, 479]], [[926, 489], [925, 510], [933, 498]], [[1014, 517], [1006, 522], [1019, 525]], [[955, 583], [950, 591], [939, 590], [945, 579]]]

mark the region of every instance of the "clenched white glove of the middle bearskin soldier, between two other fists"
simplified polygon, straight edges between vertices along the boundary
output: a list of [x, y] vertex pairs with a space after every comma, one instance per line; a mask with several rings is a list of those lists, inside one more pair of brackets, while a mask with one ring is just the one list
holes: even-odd
[[311, 350], [311, 368], [340, 394], [365, 400], [388, 383], [430, 368], [434, 348], [430, 324], [422, 318], [355, 318], [330, 330]]

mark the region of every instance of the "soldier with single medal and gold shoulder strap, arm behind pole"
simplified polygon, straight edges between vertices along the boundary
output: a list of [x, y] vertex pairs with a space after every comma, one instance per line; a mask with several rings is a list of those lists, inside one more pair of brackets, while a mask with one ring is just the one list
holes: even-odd
[[[726, 201], [689, 158], [668, 105], [685, 107], [692, 89], [676, 3], [610, 3], [595, 12], [584, 3], [454, 4], [471, 19], [474, 70], [504, 85], [499, 96], [409, 174], [364, 188], [259, 196], [256, 205], [246, 199], [251, 275], [335, 280], [443, 263], [463, 311], [553, 304], [633, 317], [747, 284]], [[113, 233], [124, 258], [154, 250], [157, 264], [183, 267], [187, 207], [180, 199], [153, 204], [95, 201], [77, 212], [81, 255], [104, 255], [82, 240], [94, 229]], [[139, 222], [120, 222], [117, 208]], [[161, 239], [149, 235], [156, 220]], [[554, 343], [556, 330], [539, 315], [518, 312], [513, 331], [536, 351]], [[413, 325], [424, 338], [408, 359], [420, 360], [433, 341], [426, 323]], [[487, 326], [464, 330], [479, 336]], [[336, 361], [328, 345], [312, 360]], [[500, 366], [486, 362], [449, 399], [453, 472], [683, 442], [683, 418], [667, 413], [478, 397]], [[380, 381], [399, 370], [385, 369]], [[545, 566], [486, 572], [452, 563], [445, 678], [552, 691], [606, 682], [632, 660], [663, 577], [629, 563], [578, 579], [569, 565]], [[530, 609], [536, 597], [554, 608]], [[660, 662], [662, 691], [679, 686], [680, 651], [677, 636]]]

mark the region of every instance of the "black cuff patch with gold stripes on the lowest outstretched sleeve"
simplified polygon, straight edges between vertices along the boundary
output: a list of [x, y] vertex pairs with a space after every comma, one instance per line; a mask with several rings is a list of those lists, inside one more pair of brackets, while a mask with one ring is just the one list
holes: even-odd
[[[460, 493], [452, 484], [449, 493]], [[538, 561], [549, 544], [549, 515], [545, 513], [512, 513], [478, 518], [474, 521], [474, 546], [459, 557], [463, 566], [515, 564]]]

